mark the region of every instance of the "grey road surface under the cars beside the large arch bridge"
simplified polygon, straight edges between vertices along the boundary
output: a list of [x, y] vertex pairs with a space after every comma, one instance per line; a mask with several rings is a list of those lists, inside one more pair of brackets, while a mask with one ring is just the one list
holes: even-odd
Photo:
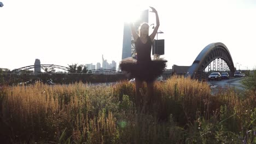
[[226, 89], [226, 88], [235, 88], [238, 90], [243, 90], [243, 85], [241, 83], [242, 80], [244, 80], [245, 77], [236, 77], [228, 80], [221, 80], [221, 81], [208, 81], [212, 93], [218, 92], [219, 88]]

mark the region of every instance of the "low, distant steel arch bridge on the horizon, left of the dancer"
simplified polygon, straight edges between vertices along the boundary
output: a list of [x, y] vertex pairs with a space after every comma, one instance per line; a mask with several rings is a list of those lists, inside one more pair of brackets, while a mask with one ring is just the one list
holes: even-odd
[[18, 69], [14, 69], [12, 70], [13, 73], [19, 73], [22, 70], [28, 70], [28, 69], [33, 69], [33, 68], [57, 68], [57, 69], [62, 69], [62, 70], [66, 70], [69, 71], [68, 67], [63, 67], [61, 65], [55, 65], [55, 64], [40, 64], [40, 65], [28, 65], [26, 67], [21, 67]]

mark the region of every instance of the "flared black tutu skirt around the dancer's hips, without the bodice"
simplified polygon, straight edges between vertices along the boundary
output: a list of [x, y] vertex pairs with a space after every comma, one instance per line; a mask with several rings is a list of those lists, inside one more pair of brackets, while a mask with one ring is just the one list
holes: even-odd
[[141, 81], [153, 82], [158, 76], [160, 76], [165, 67], [166, 60], [155, 59], [152, 61], [138, 62], [136, 59], [129, 57], [123, 59], [119, 67], [126, 74], [129, 74], [129, 78], [136, 78]]

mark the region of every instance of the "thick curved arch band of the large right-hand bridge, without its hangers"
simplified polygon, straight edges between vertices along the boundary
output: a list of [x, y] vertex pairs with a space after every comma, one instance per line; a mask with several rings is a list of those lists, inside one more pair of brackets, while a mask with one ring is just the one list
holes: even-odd
[[228, 48], [223, 43], [211, 43], [207, 45], [196, 57], [189, 67], [185, 77], [201, 79], [206, 67], [215, 59], [221, 58], [228, 65], [230, 74], [234, 75], [235, 67]]

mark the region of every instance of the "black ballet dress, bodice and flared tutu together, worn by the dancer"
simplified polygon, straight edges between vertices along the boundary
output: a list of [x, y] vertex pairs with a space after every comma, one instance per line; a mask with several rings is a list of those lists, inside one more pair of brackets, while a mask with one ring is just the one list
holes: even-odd
[[160, 76], [166, 68], [166, 60], [163, 58], [151, 59], [152, 41], [150, 37], [147, 43], [142, 43], [138, 37], [135, 42], [137, 59], [128, 57], [122, 59], [119, 63], [119, 68], [123, 71], [129, 79], [135, 78], [141, 81], [153, 82]]

